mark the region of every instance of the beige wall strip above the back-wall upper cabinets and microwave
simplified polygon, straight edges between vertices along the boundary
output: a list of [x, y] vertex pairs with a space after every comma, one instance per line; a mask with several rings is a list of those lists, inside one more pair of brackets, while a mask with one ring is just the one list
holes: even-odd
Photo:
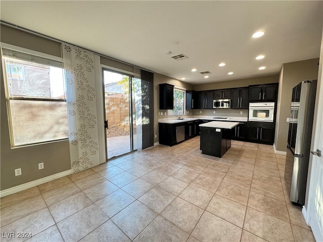
[[194, 85], [195, 91], [214, 90], [214, 89], [225, 89], [225, 88], [236, 88], [236, 87], [247, 87], [249, 85], [277, 83], [278, 75], [265, 76], [265, 77], [253, 77], [225, 82], [213, 82], [206, 84]]

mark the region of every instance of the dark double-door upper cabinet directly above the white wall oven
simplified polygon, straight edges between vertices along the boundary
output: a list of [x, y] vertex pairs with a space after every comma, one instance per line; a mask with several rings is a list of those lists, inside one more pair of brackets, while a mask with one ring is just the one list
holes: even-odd
[[277, 96], [277, 84], [249, 86], [249, 102], [266, 101], [275, 102]]

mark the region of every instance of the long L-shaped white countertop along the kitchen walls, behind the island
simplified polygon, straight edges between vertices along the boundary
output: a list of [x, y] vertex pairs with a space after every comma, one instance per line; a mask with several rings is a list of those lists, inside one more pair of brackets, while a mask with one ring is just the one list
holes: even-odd
[[247, 122], [248, 117], [217, 117], [217, 116], [188, 116], [185, 117], [184, 119], [177, 119], [177, 117], [169, 117], [169, 118], [159, 118], [158, 123], [163, 123], [163, 124], [178, 124], [178, 123], [183, 123], [183, 122], [190, 122], [193, 120], [212, 120], [212, 121], [227, 121], [227, 122]]

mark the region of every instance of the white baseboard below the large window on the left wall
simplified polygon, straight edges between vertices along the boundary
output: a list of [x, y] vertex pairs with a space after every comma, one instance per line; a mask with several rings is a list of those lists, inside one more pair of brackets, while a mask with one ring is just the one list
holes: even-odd
[[23, 190], [26, 190], [26, 189], [29, 189], [32, 187], [36, 187], [38, 185], [47, 183], [48, 181], [55, 180], [57, 178], [61, 178], [63, 176], [69, 175], [69, 174], [72, 174], [72, 170], [65, 170], [65, 171], [62, 171], [57, 174], [49, 175], [49, 176], [46, 176], [46, 177], [43, 177], [43, 178], [40, 178], [37, 180], [30, 181], [29, 183], [21, 184], [16, 187], [13, 187], [13, 188], [8, 188], [6, 190], [0, 191], [0, 198], [14, 194], [14, 193], [21, 192]]

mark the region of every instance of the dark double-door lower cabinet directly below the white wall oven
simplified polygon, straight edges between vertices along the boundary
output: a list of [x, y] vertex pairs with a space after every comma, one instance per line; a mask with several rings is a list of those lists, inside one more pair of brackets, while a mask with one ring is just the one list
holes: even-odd
[[260, 144], [274, 144], [273, 124], [249, 124], [248, 123], [248, 141]]

